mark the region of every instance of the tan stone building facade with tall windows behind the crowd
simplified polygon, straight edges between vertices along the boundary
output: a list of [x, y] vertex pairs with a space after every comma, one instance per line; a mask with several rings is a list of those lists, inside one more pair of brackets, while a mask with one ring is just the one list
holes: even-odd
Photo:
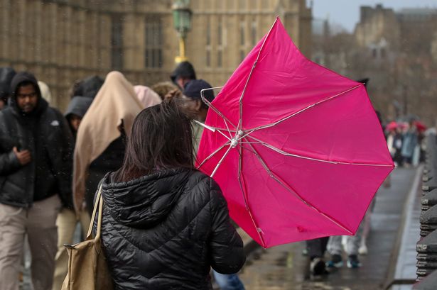
[[[117, 69], [134, 84], [168, 80], [178, 38], [171, 0], [0, 0], [0, 66], [46, 82], [65, 108], [76, 79]], [[305, 0], [192, 0], [186, 50], [198, 77], [224, 84], [244, 55], [281, 16], [311, 56]]]

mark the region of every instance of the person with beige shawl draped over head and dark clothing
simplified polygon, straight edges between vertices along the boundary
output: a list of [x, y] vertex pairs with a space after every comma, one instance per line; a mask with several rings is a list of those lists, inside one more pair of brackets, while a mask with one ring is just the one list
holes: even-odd
[[87, 210], [91, 216], [97, 184], [122, 166], [126, 135], [142, 108], [134, 86], [120, 72], [109, 72], [77, 130], [73, 194], [78, 215]]

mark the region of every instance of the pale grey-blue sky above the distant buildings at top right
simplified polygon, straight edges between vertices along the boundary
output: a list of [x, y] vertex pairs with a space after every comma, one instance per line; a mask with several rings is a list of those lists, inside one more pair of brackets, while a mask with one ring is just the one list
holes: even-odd
[[348, 31], [352, 31], [360, 19], [360, 6], [376, 4], [394, 10], [416, 7], [437, 9], [437, 0], [313, 0], [313, 17], [329, 16], [330, 22], [340, 23]]

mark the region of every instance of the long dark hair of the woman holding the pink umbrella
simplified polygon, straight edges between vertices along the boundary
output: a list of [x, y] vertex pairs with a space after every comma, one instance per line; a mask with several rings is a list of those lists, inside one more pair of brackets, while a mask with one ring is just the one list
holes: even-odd
[[115, 182], [127, 182], [159, 169], [194, 168], [193, 133], [177, 101], [145, 108], [136, 116]]

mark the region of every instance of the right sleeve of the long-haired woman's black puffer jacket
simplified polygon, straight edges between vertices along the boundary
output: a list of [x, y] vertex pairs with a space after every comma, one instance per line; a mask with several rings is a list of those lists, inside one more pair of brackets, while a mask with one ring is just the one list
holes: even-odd
[[212, 216], [210, 236], [212, 269], [221, 274], [237, 273], [246, 261], [243, 241], [230, 223], [227, 202], [220, 187], [213, 179], [210, 179], [210, 209]]

